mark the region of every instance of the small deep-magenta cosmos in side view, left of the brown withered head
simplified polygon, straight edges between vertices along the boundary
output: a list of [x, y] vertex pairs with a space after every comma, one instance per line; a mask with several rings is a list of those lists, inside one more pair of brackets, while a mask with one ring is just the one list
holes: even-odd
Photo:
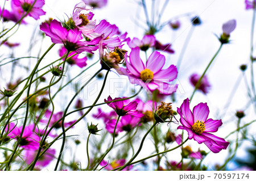
[[108, 106], [112, 107], [113, 110], [117, 113], [118, 116], [125, 116], [125, 115], [133, 115], [137, 117], [144, 116], [142, 113], [139, 113], [138, 110], [136, 110], [138, 103], [136, 101], [130, 102], [129, 99], [126, 100], [119, 100], [117, 102], [112, 102], [113, 100], [118, 100], [122, 98], [115, 98], [112, 99], [111, 96], [108, 96], [108, 100], [104, 99]]

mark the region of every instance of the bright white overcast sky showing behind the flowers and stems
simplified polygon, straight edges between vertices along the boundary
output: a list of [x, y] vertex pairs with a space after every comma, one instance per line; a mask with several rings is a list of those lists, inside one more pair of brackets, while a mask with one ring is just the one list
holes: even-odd
[[[44, 10], [47, 12], [47, 14], [46, 16], [42, 16], [40, 20], [43, 22], [45, 19], [48, 19], [49, 17], [52, 17], [53, 19], [60, 18], [60, 20], [63, 20], [63, 17], [67, 19], [67, 15], [70, 16], [72, 14], [73, 7], [76, 5], [76, 3], [79, 2], [80, 1], [46, 0]], [[120, 31], [127, 31], [128, 36], [130, 36], [131, 39], [133, 37], [138, 37], [139, 39], [142, 39], [144, 31], [142, 30], [142, 28], [138, 27], [138, 24], [135, 23], [134, 19], [138, 19], [138, 17], [140, 17], [140, 20], [144, 20], [144, 13], [142, 8], [139, 7], [136, 2], [137, 1], [135, 0], [109, 0], [108, 6], [104, 7], [104, 9], [94, 10], [94, 18], [97, 19], [97, 23], [99, 23], [101, 19], [106, 19], [110, 23], [116, 24], [119, 27]], [[146, 1], [148, 5], [148, 10], [150, 10], [150, 2], [151, 1], [149, 0]], [[156, 0], [156, 3], [159, 3], [159, 7], [162, 7], [163, 2], [164, 0]], [[234, 115], [237, 110], [244, 110], [246, 108], [246, 104], [248, 101], [245, 83], [244, 81], [242, 81], [240, 86], [238, 87], [236, 94], [234, 95], [232, 104], [230, 104], [229, 109], [227, 111], [223, 110], [228, 99], [228, 96], [233, 89], [233, 86], [235, 85], [237, 79], [242, 75], [239, 69], [240, 65], [249, 63], [250, 29], [253, 11], [245, 10], [245, 3], [243, 0], [171, 0], [170, 3], [168, 3], [166, 10], [164, 11], [162, 22], [166, 22], [170, 20], [172, 17], [186, 14], [188, 12], [190, 12], [192, 15], [189, 17], [183, 16], [183, 18], [179, 19], [181, 22], [181, 28], [179, 30], [172, 31], [170, 27], [166, 26], [162, 30], [162, 32], [156, 34], [156, 39], [158, 39], [160, 42], [164, 44], [172, 43], [172, 48], [175, 50], [175, 54], [165, 54], [167, 64], [166, 67], [170, 64], [176, 65], [177, 58], [179, 57], [179, 53], [181, 47], [183, 46], [185, 37], [187, 36], [191, 28], [191, 17], [199, 15], [202, 21], [202, 24], [195, 28], [193, 36], [189, 41], [187, 51], [185, 52], [185, 55], [183, 57], [183, 62], [181, 64], [178, 76], [179, 83], [183, 87], [184, 93], [180, 94], [180, 92], [177, 92], [177, 102], [174, 105], [174, 107], [180, 107], [183, 100], [185, 98], [190, 97], [192, 94], [193, 87], [190, 85], [188, 77], [192, 73], [203, 73], [204, 69], [208, 65], [208, 62], [219, 48], [220, 43], [216, 36], [214, 35], [214, 33], [220, 36], [220, 34], [222, 33], [223, 23], [227, 22], [230, 19], [237, 20], [237, 28], [236, 30], [234, 30], [234, 32], [232, 32], [230, 37], [232, 43], [223, 46], [220, 54], [218, 54], [216, 60], [214, 60], [212, 66], [207, 72], [210, 84], [212, 85], [209, 94], [205, 96], [201, 94], [201, 92], [196, 92], [191, 104], [191, 108], [193, 108], [193, 106], [196, 106], [200, 102], [207, 102], [210, 108], [209, 117], [212, 119], [222, 119], [222, 122], [224, 122], [224, 125], [219, 129], [216, 135], [220, 137], [225, 137], [227, 133], [236, 129], [237, 119]], [[30, 23], [27, 27], [20, 26], [20, 32], [16, 33], [15, 36], [11, 37], [10, 39], [11, 42], [22, 42], [23, 46], [26, 47], [26, 50], [28, 47], [27, 45], [29, 43], [32, 31], [34, 30], [33, 23], [38, 24], [37, 31], [39, 30], [40, 24], [40, 21], [35, 22], [34, 19], [30, 19], [28, 20], [28, 22]], [[0, 26], [2, 26], [2, 24]], [[40, 40], [40, 37], [38, 37], [38, 40]], [[51, 40], [49, 39], [49, 37], [46, 37], [43, 43], [42, 52], [44, 52], [48, 48], [48, 45], [50, 45], [50, 43]], [[40, 41], [37, 43], [37, 45], [40, 45]], [[33, 49], [36, 48], [38, 47], [35, 46]], [[51, 50], [51, 54], [47, 56], [48, 59], [54, 57], [51, 60], [56, 60], [59, 57], [57, 54], [58, 48], [59, 47], [56, 46]], [[0, 51], [2, 54], [1, 49]], [[32, 51], [32, 54], [34, 56], [36, 56], [38, 51], [35, 50], [35, 52], [36, 53]], [[17, 57], [19, 55], [24, 56], [24, 54], [27, 54], [27, 52], [15, 52], [15, 55]], [[144, 58], [143, 52], [141, 52], [141, 57], [142, 59]], [[88, 64], [90, 64], [93, 61], [88, 62]], [[24, 64], [27, 65], [27, 63]], [[98, 68], [100, 68], [100, 65], [98, 65]], [[98, 68], [90, 69], [90, 71], [88, 71], [88, 74], [93, 75], [94, 72], [98, 70]], [[73, 66], [69, 70], [72, 70], [71, 74], [73, 72], [76, 74], [76, 70], [79, 70], [79, 68]], [[6, 74], [9, 72], [10, 71], [8, 69], [1, 69], [0, 80], [9, 80], [9, 78], [6, 77]], [[250, 82], [249, 69], [247, 69], [247, 75], [248, 82]], [[109, 78], [117, 78], [117, 75], [114, 73], [110, 73]], [[2, 89], [5, 85], [0, 83], [0, 86]], [[108, 90], [108, 86], [105, 90]], [[67, 93], [67, 96], [68, 94], [72, 94], [72, 92]], [[106, 95], [102, 95], [99, 102], [102, 102], [103, 99], [106, 98], [108, 95], [109, 93], [106, 93]], [[120, 94], [118, 94], [118, 92], [115, 92], [113, 96], [119, 95]], [[60, 110], [56, 111], [63, 111], [61, 110], [61, 107], [63, 107], [65, 103], [66, 102], [63, 102], [63, 99], [61, 99]], [[86, 100], [84, 104], [89, 105], [89, 103], [92, 103], [92, 99]], [[96, 111], [97, 109], [95, 108], [94, 112]], [[220, 117], [220, 114], [224, 112], [226, 112], [226, 116]], [[245, 113], [248, 116], [245, 119], [242, 119], [241, 124], [248, 123], [256, 117], [251, 107], [247, 109]], [[232, 121], [234, 121], [234, 123], [232, 123]], [[82, 132], [84, 131], [85, 123], [81, 123], [80, 125], [80, 128], [83, 127], [83, 129], [81, 129]], [[174, 127], [176, 127], [176, 125]], [[87, 129], [85, 129], [85, 132], [86, 131]], [[186, 134], [187, 133], [185, 133], [185, 135]], [[189, 141], [189, 145], [195, 145], [195, 149], [198, 146], [198, 144], [195, 141]], [[204, 145], [200, 145], [200, 148], [205, 148], [205, 150], [208, 150]], [[59, 153], [59, 150], [57, 150], [57, 153]], [[85, 147], [81, 151], [81, 153], [85, 153]], [[221, 163], [221, 160], [225, 158], [226, 154], [227, 151], [224, 150], [222, 150], [221, 153], [218, 154], [211, 154], [210, 157], [205, 159], [205, 163]], [[141, 157], [138, 158], [143, 158], [144, 155], [148, 154], [141, 153]], [[243, 155], [242, 150], [240, 155]]]

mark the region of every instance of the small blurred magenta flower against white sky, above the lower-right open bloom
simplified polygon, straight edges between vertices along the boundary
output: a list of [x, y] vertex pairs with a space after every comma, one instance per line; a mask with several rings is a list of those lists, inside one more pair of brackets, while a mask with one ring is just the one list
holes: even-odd
[[[189, 81], [193, 86], [196, 86], [196, 83], [199, 81], [200, 77], [201, 76], [199, 74], [192, 74], [189, 77]], [[204, 77], [201, 79], [201, 83], [197, 89], [204, 92], [204, 94], [207, 94], [209, 92], [210, 83], [206, 75], [204, 75]]]

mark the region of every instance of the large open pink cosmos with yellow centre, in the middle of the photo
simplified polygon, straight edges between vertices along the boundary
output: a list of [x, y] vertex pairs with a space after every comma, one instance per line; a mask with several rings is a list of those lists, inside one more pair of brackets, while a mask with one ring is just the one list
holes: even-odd
[[125, 58], [131, 83], [141, 85], [150, 91], [157, 89], [164, 95], [170, 95], [177, 90], [178, 85], [166, 83], [174, 81], [177, 77], [176, 66], [171, 65], [167, 69], [162, 69], [166, 58], [159, 52], [155, 51], [148, 57], [146, 66], [139, 57], [139, 47], [131, 50], [130, 61]]

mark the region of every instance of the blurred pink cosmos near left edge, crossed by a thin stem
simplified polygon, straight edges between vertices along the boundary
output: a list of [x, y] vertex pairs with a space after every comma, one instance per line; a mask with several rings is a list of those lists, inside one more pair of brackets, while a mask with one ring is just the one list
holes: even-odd
[[[19, 139], [20, 133], [22, 131], [22, 127], [16, 127], [14, 123], [10, 123], [8, 136], [10, 138]], [[22, 134], [22, 140], [20, 141], [20, 147], [24, 149], [38, 149], [39, 148], [39, 136], [33, 132], [34, 125], [30, 124], [25, 127], [24, 132]], [[7, 132], [8, 127], [6, 127], [5, 131]]]

